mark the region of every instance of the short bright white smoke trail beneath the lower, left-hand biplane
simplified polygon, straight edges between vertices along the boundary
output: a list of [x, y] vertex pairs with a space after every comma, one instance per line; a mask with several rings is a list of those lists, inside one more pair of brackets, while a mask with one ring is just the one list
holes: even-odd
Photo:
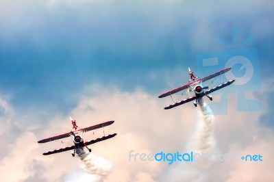
[[112, 170], [112, 164], [110, 161], [86, 151], [82, 155], [79, 155], [79, 166], [81, 166], [86, 173], [77, 172], [75, 174], [70, 174], [69, 178], [66, 180], [67, 182], [102, 182]]

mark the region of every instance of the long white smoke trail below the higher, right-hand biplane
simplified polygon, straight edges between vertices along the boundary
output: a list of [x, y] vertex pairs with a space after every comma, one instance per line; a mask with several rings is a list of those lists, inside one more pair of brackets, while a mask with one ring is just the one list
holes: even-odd
[[[198, 122], [194, 135], [188, 141], [184, 152], [207, 154], [214, 153], [214, 115], [206, 103], [201, 101], [198, 108]], [[171, 166], [169, 174], [164, 177], [168, 181], [207, 181], [206, 173], [212, 169], [213, 162], [204, 157], [200, 161], [178, 162]]]

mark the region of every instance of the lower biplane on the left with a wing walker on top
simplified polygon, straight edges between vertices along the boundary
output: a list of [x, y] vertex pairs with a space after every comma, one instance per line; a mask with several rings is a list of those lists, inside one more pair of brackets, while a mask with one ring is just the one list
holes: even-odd
[[84, 129], [78, 129], [79, 127], [76, 125], [76, 121], [71, 118], [71, 124], [73, 125], [73, 128], [71, 129], [70, 132], [64, 133], [64, 134], [61, 134], [61, 135], [56, 135], [56, 136], [53, 136], [53, 137], [50, 137], [50, 138], [45, 138], [45, 139], [39, 140], [38, 143], [46, 143], [46, 142], [51, 142], [51, 141], [54, 141], [54, 140], [60, 140], [62, 138], [71, 137], [71, 138], [73, 138], [74, 145], [66, 146], [64, 148], [55, 149], [53, 151], [48, 151], [47, 153], [43, 153], [43, 155], [51, 155], [53, 153], [62, 153], [64, 151], [73, 150], [71, 152], [71, 155], [73, 155], [73, 157], [75, 157], [75, 153], [78, 156], [80, 156], [80, 155], [85, 153], [84, 152], [84, 147], [87, 148], [89, 152], [91, 152], [91, 148], [89, 148], [88, 145], [95, 144], [95, 143], [101, 142], [103, 140], [108, 140], [110, 138], [113, 138], [116, 135], [116, 133], [113, 133], [113, 134], [110, 134], [110, 135], [105, 135], [105, 131], [103, 130], [103, 137], [97, 138], [95, 140], [90, 140], [88, 142], [84, 142], [83, 137], [82, 137], [83, 133], [87, 132], [87, 131], [92, 131], [92, 130], [95, 130], [95, 129], [107, 127], [109, 125], [112, 125], [113, 123], [114, 123], [114, 120], [110, 120], [110, 121], [107, 121], [107, 122], [102, 122], [98, 125], [93, 125], [91, 127], [86, 127]]

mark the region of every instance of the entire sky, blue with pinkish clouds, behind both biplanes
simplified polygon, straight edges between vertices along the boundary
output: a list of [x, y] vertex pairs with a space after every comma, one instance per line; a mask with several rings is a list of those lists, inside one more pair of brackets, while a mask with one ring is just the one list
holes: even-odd
[[[199, 111], [192, 103], [166, 111], [172, 100], [158, 95], [186, 83], [188, 67], [204, 77], [232, 66], [225, 79], [235, 83], [210, 104], [216, 148], [264, 161], [219, 163], [199, 180], [273, 181], [273, 8], [266, 0], [0, 0], [3, 179], [81, 173], [69, 152], [41, 155], [60, 144], [36, 142], [69, 131], [73, 116], [83, 127], [115, 120], [107, 131], [118, 135], [92, 146], [114, 166], [105, 181], [175, 181], [185, 166], [129, 161], [129, 151], [184, 151]], [[212, 57], [218, 64], [206, 66]]]

